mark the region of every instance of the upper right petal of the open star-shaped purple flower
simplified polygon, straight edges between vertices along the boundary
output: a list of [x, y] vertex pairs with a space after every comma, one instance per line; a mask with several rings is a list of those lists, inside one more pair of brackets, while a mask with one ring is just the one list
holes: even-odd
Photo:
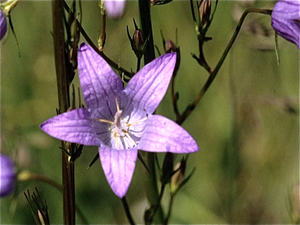
[[176, 53], [169, 53], [145, 65], [124, 90], [129, 102], [152, 114], [166, 94], [175, 64]]

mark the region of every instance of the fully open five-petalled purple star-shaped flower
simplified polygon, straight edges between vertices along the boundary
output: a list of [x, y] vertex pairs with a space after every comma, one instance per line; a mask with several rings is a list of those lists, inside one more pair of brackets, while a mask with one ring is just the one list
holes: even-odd
[[114, 193], [129, 187], [138, 149], [191, 153], [199, 148], [181, 126], [152, 115], [164, 97], [176, 53], [145, 65], [124, 89], [118, 75], [90, 46], [78, 51], [78, 73], [87, 109], [75, 109], [41, 125], [47, 134], [68, 142], [99, 146], [100, 161]]

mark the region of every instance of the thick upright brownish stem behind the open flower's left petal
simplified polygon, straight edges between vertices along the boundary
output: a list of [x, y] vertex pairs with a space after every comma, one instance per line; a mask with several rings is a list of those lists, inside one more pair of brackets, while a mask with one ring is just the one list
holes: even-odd
[[[52, 1], [53, 40], [58, 91], [59, 111], [66, 112], [70, 107], [69, 80], [67, 58], [65, 53], [64, 30], [64, 1]], [[61, 142], [62, 149], [67, 150], [65, 142]], [[70, 149], [72, 153], [72, 149]], [[70, 154], [71, 155], [71, 154]], [[63, 188], [63, 217], [64, 224], [75, 224], [75, 185], [74, 164], [69, 161], [68, 154], [62, 151], [62, 188]]]

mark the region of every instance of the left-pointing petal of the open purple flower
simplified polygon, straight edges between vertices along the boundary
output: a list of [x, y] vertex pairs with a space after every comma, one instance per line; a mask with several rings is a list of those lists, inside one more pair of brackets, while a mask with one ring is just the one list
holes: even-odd
[[50, 118], [41, 124], [41, 129], [57, 139], [82, 145], [100, 145], [93, 128], [90, 113], [84, 109], [74, 109]]

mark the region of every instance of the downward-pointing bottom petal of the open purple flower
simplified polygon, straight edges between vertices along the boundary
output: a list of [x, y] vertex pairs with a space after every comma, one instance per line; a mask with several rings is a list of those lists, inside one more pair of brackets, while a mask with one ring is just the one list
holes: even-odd
[[134, 172], [137, 150], [116, 150], [101, 146], [99, 147], [99, 154], [102, 168], [111, 189], [119, 198], [123, 198]]

